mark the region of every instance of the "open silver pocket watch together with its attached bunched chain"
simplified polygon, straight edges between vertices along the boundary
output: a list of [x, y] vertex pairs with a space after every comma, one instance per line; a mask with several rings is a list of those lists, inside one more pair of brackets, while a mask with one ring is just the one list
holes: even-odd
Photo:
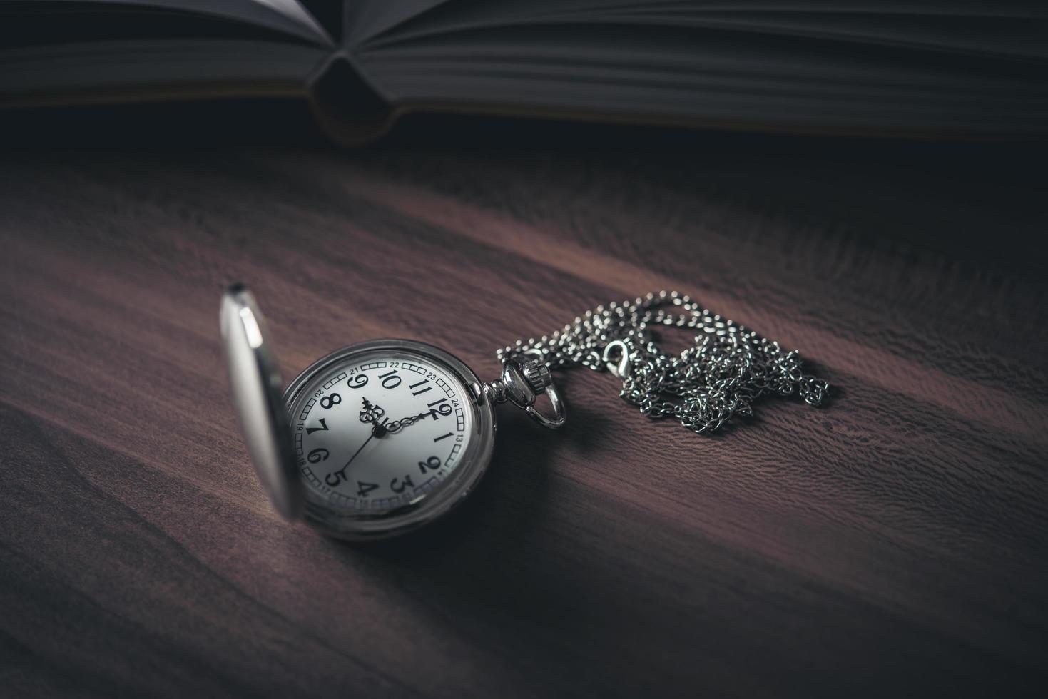
[[[804, 373], [795, 350], [676, 291], [597, 306], [548, 335], [499, 349], [502, 373], [487, 383], [432, 345], [372, 340], [318, 359], [282, 390], [265, 321], [242, 285], [223, 294], [220, 324], [233, 405], [274, 507], [351, 540], [416, 529], [473, 493], [492, 461], [496, 403], [510, 402], [545, 428], [563, 425], [551, 369], [609, 372], [641, 415], [698, 434], [751, 415], [762, 396], [818, 406], [829, 390]], [[661, 326], [693, 331], [694, 343], [679, 354], [662, 351]]]

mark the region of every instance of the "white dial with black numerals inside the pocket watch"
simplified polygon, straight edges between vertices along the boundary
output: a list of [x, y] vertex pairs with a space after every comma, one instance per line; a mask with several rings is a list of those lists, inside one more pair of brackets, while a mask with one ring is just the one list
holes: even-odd
[[474, 438], [468, 391], [409, 350], [357, 353], [318, 373], [288, 411], [307, 499], [380, 515], [435, 495]]

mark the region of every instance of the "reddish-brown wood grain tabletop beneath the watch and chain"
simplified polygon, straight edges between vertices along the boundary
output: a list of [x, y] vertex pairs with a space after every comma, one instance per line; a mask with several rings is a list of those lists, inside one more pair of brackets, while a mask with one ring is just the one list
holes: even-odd
[[[1043, 149], [466, 131], [3, 154], [0, 695], [1044, 692]], [[834, 394], [700, 437], [565, 373], [563, 431], [500, 409], [467, 504], [352, 546], [255, 479], [233, 281], [285, 380], [380, 336], [492, 377], [678, 288]]]

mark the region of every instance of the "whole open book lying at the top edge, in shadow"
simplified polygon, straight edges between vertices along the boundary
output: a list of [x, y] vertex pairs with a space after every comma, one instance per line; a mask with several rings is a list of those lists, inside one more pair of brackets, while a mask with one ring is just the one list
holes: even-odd
[[0, 0], [0, 106], [298, 95], [343, 143], [409, 110], [1043, 135], [1046, 16], [1036, 0]]

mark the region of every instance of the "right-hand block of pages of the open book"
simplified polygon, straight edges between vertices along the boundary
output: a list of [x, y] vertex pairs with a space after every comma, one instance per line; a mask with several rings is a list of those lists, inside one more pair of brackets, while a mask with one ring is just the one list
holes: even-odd
[[1016, 0], [930, 0], [920, 13], [899, 0], [861, 7], [459, 0], [371, 36], [354, 60], [401, 110], [821, 133], [1045, 133], [1044, 9]]

